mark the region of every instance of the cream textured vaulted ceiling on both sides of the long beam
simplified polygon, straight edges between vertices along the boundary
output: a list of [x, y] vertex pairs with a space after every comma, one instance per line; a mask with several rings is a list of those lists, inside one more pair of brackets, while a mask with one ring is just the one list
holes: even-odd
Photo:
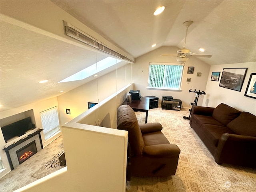
[[[186, 48], [197, 54], [201, 54], [198, 51], [200, 47], [205, 48], [204, 54], [211, 54], [212, 58], [200, 59], [207, 64], [256, 61], [256, 1], [52, 2], [134, 58], [161, 46], [182, 48], [186, 30], [182, 23], [192, 20], [194, 23], [188, 29]], [[12, 3], [20, 2], [1, 0], [1, 13], [2, 10], [7, 15], [12, 12], [12, 6], [9, 6]], [[153, 16], [154, 10], [161, 5], [166, 6], [164, 12]], [[26, 16], [33, 17], [32, 13]], [[1, 110], [52, 98], [58, 96], [61, 90], [71, 90], [92, 80], [93, 77], [57, 83], [106, 57], [99, 52], [6, 22], [2, 17], [0, 40]], [[156, 47], [151, 48], [154, 43]], [[46, 78], [51, 80], [48, 84], [38, 84]]]

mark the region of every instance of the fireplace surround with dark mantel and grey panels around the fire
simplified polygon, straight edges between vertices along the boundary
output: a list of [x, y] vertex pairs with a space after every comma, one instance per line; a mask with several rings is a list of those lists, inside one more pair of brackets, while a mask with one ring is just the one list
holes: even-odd
[[16, 143], [8, 146], [7, 148], [4, 148], [12, 170], [20, 165], [20, 161], [18, 160], [18, 155], [17, 155], [18, 150], [20, 150], [24, 146], [29, 145], [32, 142], [35, 142], [35, 144], [36, 144], [36, 152], [39, 152], [43, 148], [42, 139], [41, 139], [41, 135], [40, 135], [41, 131], [42, 130], [38, 130], [38, 131], [30, 134], [27, 138], [24, 138]]

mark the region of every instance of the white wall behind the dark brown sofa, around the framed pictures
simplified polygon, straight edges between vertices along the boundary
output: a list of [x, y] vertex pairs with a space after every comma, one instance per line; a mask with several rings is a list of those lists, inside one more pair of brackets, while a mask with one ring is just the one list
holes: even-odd
[[[220, 87], [220, 80], [218, 82], [210, 80], [212, 72], [220, 72], [221, 78], [223, 68], [248, 68], [241, 92]], [[207, 94], [204, 96], [202, 106], [216, 107], [220, 103], [225, 103], [240, 111], [256, 115], [256, 99], [244, 96], [251, 73], [256, 73], [256, 62], [211, 66], [207, 79]]]

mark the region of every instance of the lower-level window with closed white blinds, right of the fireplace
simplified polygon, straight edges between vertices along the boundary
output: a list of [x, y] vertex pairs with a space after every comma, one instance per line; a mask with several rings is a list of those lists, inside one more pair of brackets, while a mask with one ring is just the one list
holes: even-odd
[[57, 107], [40, 112], [42, 127], [44, 129], [44, 139], [48, 139], [56, 132], [60, 131]]

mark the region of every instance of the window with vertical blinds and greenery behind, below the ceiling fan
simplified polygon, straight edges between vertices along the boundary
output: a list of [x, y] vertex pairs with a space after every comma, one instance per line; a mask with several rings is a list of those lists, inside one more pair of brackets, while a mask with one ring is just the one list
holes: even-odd
[[180, 90], [183, 68], [183, 63], [150, 63], [148, 88]]

